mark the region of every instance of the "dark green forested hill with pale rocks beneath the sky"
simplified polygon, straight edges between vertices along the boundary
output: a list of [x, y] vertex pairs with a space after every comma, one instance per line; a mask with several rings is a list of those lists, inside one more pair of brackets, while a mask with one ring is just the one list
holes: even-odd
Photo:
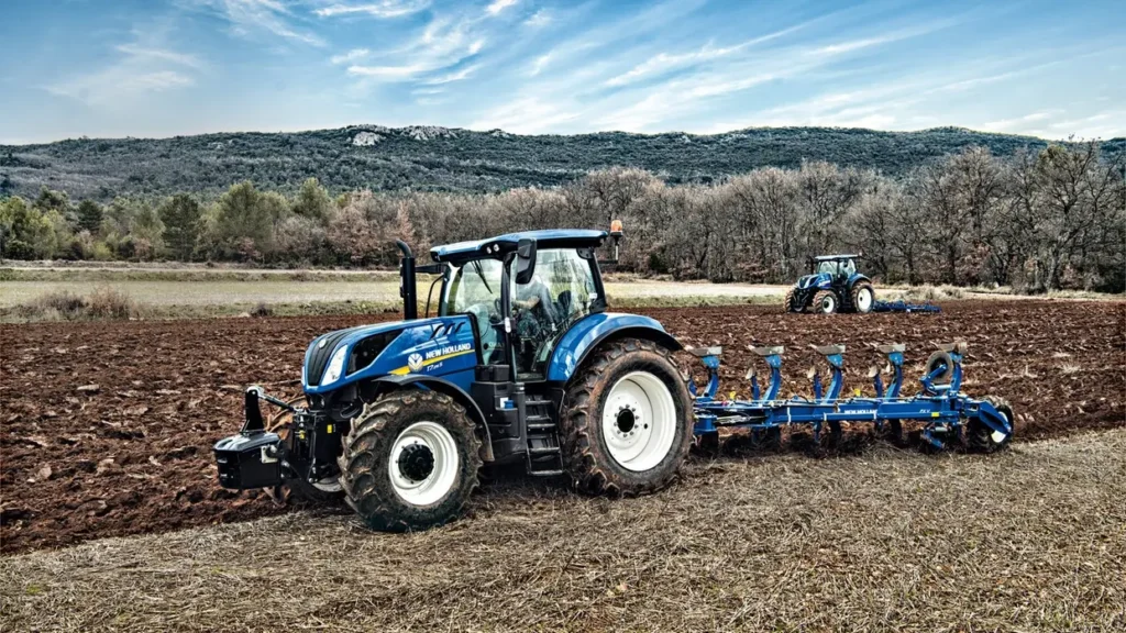
[[[0, 145], [0, 194], [41, 187], [72, 198], [217, 195], [240, 180], [294, 190], [316, 177], [330, 191], [494, 191], [549, 187], [611, 166], [640, 167], [670, 182], [711, 182], [757, 167], [803, 160], [900, 175], [968, 145], [1008, 155], [1046, 141], [956, 127], [878, 132], [825, 127], [750, 128], [724, 134], [524, 136], [437, 126], [349, 126], [298, 133], [222, 133], [171, 139], [78, 139]], [[1126, 139], [1103, 144], [1120, 151]]]

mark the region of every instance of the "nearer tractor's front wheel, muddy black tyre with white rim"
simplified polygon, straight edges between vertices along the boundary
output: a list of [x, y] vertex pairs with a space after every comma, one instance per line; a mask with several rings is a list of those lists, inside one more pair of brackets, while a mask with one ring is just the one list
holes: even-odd
[[372, 529], [427, 529], [462, 514], [477, 487], [480, 448], [473, 420], [454, 399], [394, 391], [352, 420], [340, 483]]

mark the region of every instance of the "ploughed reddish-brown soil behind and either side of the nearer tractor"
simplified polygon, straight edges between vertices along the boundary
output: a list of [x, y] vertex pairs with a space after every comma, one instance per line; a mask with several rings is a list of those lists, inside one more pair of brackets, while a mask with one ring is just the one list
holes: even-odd
[[[969, 344], [963, 391], [1006, 398], [1018, 440], [1126, 426], [1126, 304], [959, 301], [941, 314], [653, 309], [686, 345], [724, 346], [722, 391], [748, 396], [747, 346], [785, 345], [783, 395], [810, 394], [812, 344], [846, 344], [847, 390], [873, 392], [872, 344], [908, 345], [904, 393], [939, 342]], [[242, 389], [300, 392], [309, 341], [393, 314], [0, 326], [0, 551], [288, 511], [218, 487], [212, 444]], [[688, 358], [685, 358], [688, 362]], [[292, 507], [292, 506], [291, 506]]]

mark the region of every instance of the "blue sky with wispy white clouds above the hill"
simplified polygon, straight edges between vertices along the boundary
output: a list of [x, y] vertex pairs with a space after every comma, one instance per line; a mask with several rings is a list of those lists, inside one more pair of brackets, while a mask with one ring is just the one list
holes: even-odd
[[360, 123], [1121, 136], [1126, 1], [0, 7], [0, 143]]

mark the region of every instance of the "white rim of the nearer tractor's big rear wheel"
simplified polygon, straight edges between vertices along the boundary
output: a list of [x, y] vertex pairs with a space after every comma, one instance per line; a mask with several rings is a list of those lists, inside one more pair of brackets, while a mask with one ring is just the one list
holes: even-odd
[[622, 467], [647, 471], [664, 461], [677, 435], [672, 392], [649, 372], [622, 377], [606, 396], [602, 438]]

